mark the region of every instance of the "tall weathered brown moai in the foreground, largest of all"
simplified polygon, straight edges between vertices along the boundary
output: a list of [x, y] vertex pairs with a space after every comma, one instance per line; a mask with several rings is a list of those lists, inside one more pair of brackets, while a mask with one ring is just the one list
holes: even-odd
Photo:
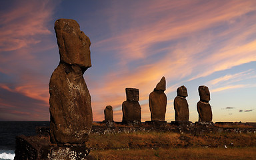
[[55, 22], [60, 61], [51, 75], [51, 143], [82, 144], [88, 141], [93, 114], [83, 73], [91, 67], [90, 39], [73, 19]]

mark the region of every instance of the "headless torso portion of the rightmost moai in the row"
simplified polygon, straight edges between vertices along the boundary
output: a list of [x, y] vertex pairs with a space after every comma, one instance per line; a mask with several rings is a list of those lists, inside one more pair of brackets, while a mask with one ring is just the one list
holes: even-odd
[[213, 113], [211, 112], [211, 105], [209, 103], [199, 101], [197, 103], [197, 112], [199, 115], [198, 121], [212, 121]]

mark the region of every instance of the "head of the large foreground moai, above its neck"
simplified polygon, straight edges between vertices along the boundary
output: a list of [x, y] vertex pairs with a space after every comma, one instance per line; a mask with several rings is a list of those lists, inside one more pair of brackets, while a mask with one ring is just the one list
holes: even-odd
[[73, 19], [58, 19], [54, 29], [61, 61], [85, 70], [91, 67], [91, 41], [79, 24]]

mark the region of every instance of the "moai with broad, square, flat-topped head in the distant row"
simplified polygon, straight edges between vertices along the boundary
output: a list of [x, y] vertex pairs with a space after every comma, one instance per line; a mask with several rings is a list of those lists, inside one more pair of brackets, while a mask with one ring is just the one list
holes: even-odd
[[141, 122], [141, 105], [139, 105], [139, 89], [126, 88], [126, 101], [122, 104], [123, 123]]

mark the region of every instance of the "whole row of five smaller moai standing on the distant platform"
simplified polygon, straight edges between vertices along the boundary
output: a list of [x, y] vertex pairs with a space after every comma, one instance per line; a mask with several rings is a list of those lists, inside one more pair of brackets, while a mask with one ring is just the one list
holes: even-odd
[[[165, 77], [157, 83], [154, 91], [149, 94], [149, 109], [151, 121], [165, 121], [167, 107], [167, 97], [164, 93], [166, 89]], [[213, 114], [211, 111], [210, 92], [207, 86], [199, 86], [200, 101], [197, 103], [199, 122], [211, 122]], [[140, 123], [141, 106], [139, 105], [139, 89], [126, 88], [127, 100], [122, 104], [123, 120], [122, 123]], [[177, 97], [174, 99], [175, 121], [189, 121], [189, 104], [187, 103], [187, 88], [183, 85], [177, 89]], [[105, 110], [105, 120], [113, 121], [113, 107], [108, 105]], [[149, 122], [149, 121], [146, 121]]]

